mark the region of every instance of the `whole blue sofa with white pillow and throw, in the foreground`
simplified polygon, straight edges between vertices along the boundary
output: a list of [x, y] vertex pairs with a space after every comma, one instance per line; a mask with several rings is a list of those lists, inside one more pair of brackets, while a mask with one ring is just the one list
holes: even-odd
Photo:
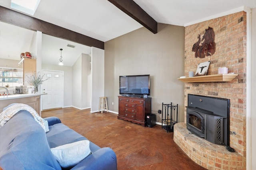
[[[76, 141], [88, 140], [57, 117], [45, 118], [49, 132], [26, 110], [14, 115], [0, 128], [0, 167], [4, 170], [61, 170], [50, 148]], [[72, 170], [116, 170], [116, 154], [110, 148], [100, 148], [90, 142], [92, 154]]]

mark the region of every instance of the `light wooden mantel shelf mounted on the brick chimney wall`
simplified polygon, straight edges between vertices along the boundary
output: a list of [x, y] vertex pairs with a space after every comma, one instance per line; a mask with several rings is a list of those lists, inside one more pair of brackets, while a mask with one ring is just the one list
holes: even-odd
[[186, 77], [178, 78], [178, 80], [185, 83], [193, 82], [231, 82], [238, 74], [214, 74], [207, 76], [196, 76], [196, 77]]

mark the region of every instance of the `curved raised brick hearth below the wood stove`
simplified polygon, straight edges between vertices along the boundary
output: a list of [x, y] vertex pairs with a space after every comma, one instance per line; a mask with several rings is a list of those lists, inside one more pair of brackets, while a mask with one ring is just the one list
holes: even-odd
[[186, 129], [186, 123], [174, 125], [174, 142], [197, 164], [209, 170], [243, 170], [245, 157], [229, 152], [222, 145], [216, 145], [197, 137]]

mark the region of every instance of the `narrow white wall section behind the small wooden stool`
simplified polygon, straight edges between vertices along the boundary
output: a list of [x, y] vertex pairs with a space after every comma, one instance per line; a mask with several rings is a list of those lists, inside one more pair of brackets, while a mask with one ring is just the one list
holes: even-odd
[[104, 96], [104, 50], [92, 47], [92, 107], [97, 112], [100, 97]]

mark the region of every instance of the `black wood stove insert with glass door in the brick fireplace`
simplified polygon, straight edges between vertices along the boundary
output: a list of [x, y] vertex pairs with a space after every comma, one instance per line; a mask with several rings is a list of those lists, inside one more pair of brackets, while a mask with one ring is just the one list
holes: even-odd
[[187, 129], [207, 141], [229, 146], [230, 100], [188, 94]]

